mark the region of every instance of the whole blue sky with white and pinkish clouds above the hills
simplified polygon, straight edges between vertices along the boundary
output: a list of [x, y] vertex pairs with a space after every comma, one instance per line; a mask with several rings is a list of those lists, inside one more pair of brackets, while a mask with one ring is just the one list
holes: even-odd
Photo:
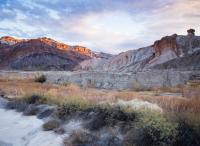
[[117, 54], [200, 34], [200, 0], [0, 0], [0, 37], [50, 37]]

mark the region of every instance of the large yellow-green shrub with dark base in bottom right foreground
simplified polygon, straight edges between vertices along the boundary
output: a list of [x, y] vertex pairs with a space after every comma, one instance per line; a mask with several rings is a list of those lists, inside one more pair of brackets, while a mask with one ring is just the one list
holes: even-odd
[[140, 129], [140, 139], [137, 142], [138, 145], [173, 145], [178, 134], [178, 124], [171, 122], [162, 113], [140, 113], [138, 127]]

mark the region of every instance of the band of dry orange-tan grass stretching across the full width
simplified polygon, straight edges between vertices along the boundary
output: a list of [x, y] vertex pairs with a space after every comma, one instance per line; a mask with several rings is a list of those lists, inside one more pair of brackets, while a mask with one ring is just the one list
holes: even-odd
[[[160, 96], [163, 92], [182, 92], [184, 97], [173, 94], [171, 96]], [[34, 80], [6, 80], [0, 79], [0, 92], [10, 98], [18, 98], [32, 94], [48, 97], [48, 101], [57, 104], [79, 103], [79, 104], [101, 104], [115, 102], [118, 99], [132, 100], [142, 99], [156, 103], [163, 109], [173, 112], [200, 112], [200, 88], [199, 87], [176, 87], [160, 88], [152, 91], [112, 91], [98, 90], [94, 88], [81, 88], [75, 84], [55, 85], [50, 83], [36, 83]], [[190, 97], [190, 98], [189, 98]]]

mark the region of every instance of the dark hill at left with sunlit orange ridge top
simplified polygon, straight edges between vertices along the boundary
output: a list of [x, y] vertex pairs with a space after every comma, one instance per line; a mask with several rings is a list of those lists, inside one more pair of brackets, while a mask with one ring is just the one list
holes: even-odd
[[0, 39], [0, 69], [73, 70], [80, 62], [96, 57], [90, 49], [70, 46], [50, 38]]

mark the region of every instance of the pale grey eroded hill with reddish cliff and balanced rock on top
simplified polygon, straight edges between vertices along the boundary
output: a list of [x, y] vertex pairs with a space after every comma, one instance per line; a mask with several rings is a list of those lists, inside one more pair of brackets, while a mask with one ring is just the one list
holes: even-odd
[[148, 69], [200, 70], [200, 36], [189, 29], [188, 35], [171, 35], [155, 41], [152, 46], [130, 50], [102, 63], [99, 70], [138, 72]]

